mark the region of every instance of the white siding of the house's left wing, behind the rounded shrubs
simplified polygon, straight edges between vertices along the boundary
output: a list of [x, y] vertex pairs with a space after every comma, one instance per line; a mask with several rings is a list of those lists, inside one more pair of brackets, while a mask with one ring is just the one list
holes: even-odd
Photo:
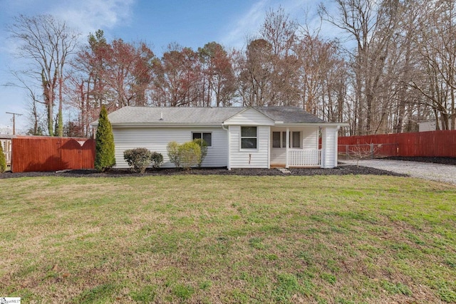
[[227, 167], [228, 165], [228, 136], [227, 131], [218, 128], [120, 128], [113, 127], [115, 143], [115, 167], [128, 168], [123, 159], [123, 152], [128, 149], [146, 148], [163, 155], [162, 167], [174, 167], [167, 156], [168, 142], [190, 142], [192, 132], [212, 133], [212, 147], [207, 148], [207, 156], [202, 167]]

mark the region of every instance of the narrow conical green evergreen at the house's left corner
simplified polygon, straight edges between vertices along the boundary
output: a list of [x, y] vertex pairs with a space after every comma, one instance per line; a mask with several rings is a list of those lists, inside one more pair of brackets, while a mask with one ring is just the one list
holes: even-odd
[[115, 165], [113, 127], [104, 105], [100, 110], [95, 136], [95, 169], [104, 172]]

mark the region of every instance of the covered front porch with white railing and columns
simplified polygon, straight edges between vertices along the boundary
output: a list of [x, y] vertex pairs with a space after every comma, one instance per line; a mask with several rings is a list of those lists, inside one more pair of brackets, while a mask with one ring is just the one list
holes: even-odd
[[333, 125], [271, 127], [270, 167], [336, 167], [337, 131]]

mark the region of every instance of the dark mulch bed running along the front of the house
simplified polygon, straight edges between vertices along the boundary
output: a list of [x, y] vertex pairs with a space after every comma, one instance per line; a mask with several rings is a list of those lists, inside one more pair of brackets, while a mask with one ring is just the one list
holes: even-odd
[[346, 175], [346, 174], [371, 174], [371, 175], [390, 175], [390, 176], [407, 176], [385, 170], [353, 166], [341, 165], [332, 169], [321, 168], [290, 168], [291, 173], [284, 174], [278, 169], [232, 169], [226, 168], [202, 168], [202, 169], [147, 169], [144, 174], [138, 174], [125, 169], [111, 169], [108, 172], [97, 172], [93, 169], [86, 170], [69, 170], [66, 172], [4, 172], [0, 174], [0, 179], [14, 177], [147, 177], [147, 176], [164, 176], [177, 174], [199, 174], [199, 175], [240, 175], [240, 176], [312, 176], [312, 175]]

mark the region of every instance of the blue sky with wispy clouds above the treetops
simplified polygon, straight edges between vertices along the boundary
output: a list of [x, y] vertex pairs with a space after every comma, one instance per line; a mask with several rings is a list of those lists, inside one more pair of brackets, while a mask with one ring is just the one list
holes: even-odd
[[81, 33], [103, 29], [108, 41], [143, 41], [158, 56], [169, 43], [197, 49], [217, 41], [227, 48], [244, 48], [247, 37], [257, 34], [266, 11], [281, 6], [292, 19], [304, 23], [316, 17], [315, 0], [0, 0], [0, 133], [16, 132], [27, 125], [26, 92], [4, 86], [14, 82], [9, 70], [21, 65], [15, 58], [15, 42], [9, 39], [6, 26], [12, 17], [24, 14], [52, 14]]

